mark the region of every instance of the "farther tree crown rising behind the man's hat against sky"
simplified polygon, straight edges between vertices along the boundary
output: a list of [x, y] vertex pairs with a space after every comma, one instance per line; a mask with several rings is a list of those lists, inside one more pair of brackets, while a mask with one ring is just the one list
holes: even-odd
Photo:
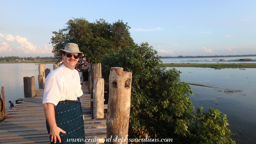
[[57, 59], [58, 50], [63, 49], [66, 43], [76, 43], [79, 50], [91, 59], [91, 63], [98, 63], [108, 53], [109, 49], [122, 49], [133, 45], [130, 37], [130, 27], [118, 20], [109, 24], [104, 19], [88, 22], [86, 19], [70, 19], [64, 29], [53, 32], [51, 38], [53, 53]]

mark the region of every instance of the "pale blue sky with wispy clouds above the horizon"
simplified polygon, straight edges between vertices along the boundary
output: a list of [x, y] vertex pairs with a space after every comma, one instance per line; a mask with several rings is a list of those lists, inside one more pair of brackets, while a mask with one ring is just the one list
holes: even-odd
[[255, 0], [0, 0], [0, 56], [44, 57], [73, 18], [127, 22], [158, 56], [256, 54]]

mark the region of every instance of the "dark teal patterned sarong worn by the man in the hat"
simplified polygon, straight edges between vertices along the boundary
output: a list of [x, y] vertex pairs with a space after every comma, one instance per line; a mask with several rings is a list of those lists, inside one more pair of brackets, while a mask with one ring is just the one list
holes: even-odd
[[[80, 98], [78, 97], [77, 101], [59, 101], [54, 110], [57, 126], [66, 131], [66, 134], [59, 133], [59, 136], [61, 137], [61, 144], [84, 144], [85, 142], [67, 141], [67, 139], [85, 140], [85, 130]], [[50, 134], [50, 127], [47, 120], [46, 128], [48, 134]], [[56, 143], [60, 144], [58, 138]], [[51, 144], [54, 144], [54, 140], [51, 142]]]

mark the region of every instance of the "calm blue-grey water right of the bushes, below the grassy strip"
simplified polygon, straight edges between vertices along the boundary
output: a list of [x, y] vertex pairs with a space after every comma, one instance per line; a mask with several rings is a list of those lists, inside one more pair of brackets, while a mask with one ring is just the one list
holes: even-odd
[[[170, 67], [167, 69], [171, 69]], [[195, 106], [208, 110], [210, 107], [227, 114], [229, 128], [236, 133], [239, 143], [256, 141], [256, 69], [211, 69], [176, 67], [181, 71], [181, 81], [205, 86], [191, 85]], [[239, 139], [239, 141], [238, 141]]]

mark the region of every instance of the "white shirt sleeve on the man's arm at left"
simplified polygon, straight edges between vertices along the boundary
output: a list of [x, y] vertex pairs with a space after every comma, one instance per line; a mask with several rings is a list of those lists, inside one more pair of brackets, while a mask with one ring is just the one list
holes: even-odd
[[46, 78], [43, 93], [43, 103], [53, 103], [55, 106], [61, 100], [62, 83], [56, 77]]

